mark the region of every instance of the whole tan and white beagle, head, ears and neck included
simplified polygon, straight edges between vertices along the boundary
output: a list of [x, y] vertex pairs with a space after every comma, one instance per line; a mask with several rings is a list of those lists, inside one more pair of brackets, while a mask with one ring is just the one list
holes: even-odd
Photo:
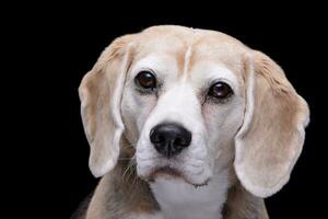
[[307, 103], [267, 55], [175, 25], [116, 38], [79, 88], [102, 177], [86, 219], [269, 218], [289, 181]]

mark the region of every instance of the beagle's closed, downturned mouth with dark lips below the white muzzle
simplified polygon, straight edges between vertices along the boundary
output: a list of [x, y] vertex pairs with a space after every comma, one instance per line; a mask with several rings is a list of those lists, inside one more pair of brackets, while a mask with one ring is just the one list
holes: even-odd
[[195, 187], [201, 187], [208, 185], [210, 178], [206, 180], [203, 183], [192, 183], [188, 177], [185, 176], [180, 171], [173, 169], [171, 166], [162, 166], [155, 169], [151, 172], [149, 177], [147, 178], [148, 182], [154, 183], [157, 177], [165, 177], [165, 178], [183, 178], [187, 184], [190, 184]]

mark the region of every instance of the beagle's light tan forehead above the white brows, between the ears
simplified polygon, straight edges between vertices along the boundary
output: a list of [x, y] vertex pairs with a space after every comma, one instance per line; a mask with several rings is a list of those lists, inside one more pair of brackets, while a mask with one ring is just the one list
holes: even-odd
[[152, 55], [172, 57], [179, 74], [190, 73], [199, 62], [207, 61], [226, 67], [241, 79], [243, 54], [248, 50], [239, 41], [221, 32], [175, 25], [144, 30], [137, 45], [137, 60]]

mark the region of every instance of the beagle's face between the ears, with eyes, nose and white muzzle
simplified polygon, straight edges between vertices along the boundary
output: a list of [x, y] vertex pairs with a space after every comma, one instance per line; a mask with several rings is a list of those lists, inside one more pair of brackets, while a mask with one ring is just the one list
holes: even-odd
[[[175, 35], [151, 38], [128, 71], [121, 114], [126, 135], [136, 142], [142, 177], [171, 172], [199, 185], [212, 176], [214, 166], [231, 161], [244, 118], [242, 69], [234, 73], [218, 48], [198, 41], [192, 46]], [[175, 142], [186, 138], [190, 142]]]

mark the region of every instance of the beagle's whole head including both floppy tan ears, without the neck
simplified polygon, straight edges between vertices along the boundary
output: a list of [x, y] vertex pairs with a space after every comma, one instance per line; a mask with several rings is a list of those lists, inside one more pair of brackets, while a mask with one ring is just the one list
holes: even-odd
[[115, 166], [125, 135], [145, 180], [202, 185], [234, 163], [242, 184], [266, 197], [289, 180], [308, 122], [305, 101], [269, 57], [180, 26], [116, 39], [79, 91], [96, 176]]

